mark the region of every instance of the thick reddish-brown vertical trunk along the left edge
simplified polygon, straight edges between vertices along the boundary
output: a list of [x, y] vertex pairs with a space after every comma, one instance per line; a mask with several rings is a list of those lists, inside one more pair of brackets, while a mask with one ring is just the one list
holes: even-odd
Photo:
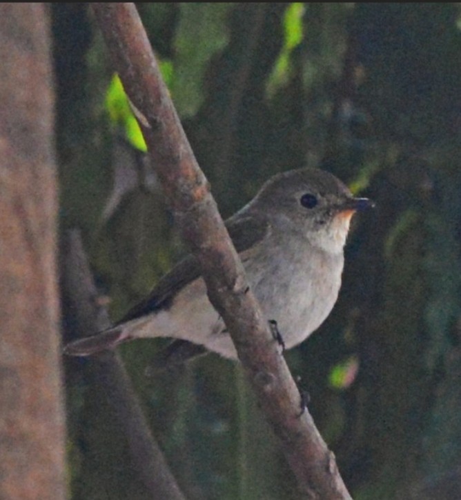
[[63, 499], [48, 12], [0, 5], [0, 498]]

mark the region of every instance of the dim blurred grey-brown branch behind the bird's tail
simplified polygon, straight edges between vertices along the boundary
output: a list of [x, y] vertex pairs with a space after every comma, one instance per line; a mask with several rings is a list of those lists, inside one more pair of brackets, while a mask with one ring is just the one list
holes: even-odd
[[[67, 236], [63, 252], [63, 297], [72, 311], [74, 328], [91, 334], [110, 326], [108, 313], [97, 304], [97, 290], [77, 231]], [[102, 386], [113, 414], [126, 437], [133, 469], [150, 498], [184, 500], [161, 450], [150, 433], [131, 387], [123, 363], [117, 354], [105, 351], [92, 357], [92, 376]]]

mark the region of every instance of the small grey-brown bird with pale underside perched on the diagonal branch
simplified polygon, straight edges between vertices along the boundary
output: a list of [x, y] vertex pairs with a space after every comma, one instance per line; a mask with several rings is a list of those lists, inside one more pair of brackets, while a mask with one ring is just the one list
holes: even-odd
[[[226, 221], [250, 288], [287, 349], [300, 344], [330, 314], [341, 287], [344, 246], [353, 214], [371, 208], [333, 174], [316, 168], [271, 177]], [[216, 352], [237, 359], [224, 321], [208, 300], [193, 255], [179, 261], [148, 297], [113, 326], [68, 343], [88, 356], [133, 339], [173, 339], [168, 356]]]

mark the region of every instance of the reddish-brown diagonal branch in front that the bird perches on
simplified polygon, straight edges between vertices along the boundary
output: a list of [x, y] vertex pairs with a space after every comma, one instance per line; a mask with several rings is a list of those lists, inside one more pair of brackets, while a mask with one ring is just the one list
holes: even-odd
[[242, 263], [190, 149], [134, 4], [92, 3], [92, 8], [170, 208], [202, 268], [208, 297], [228, 327], [300, 492], [309, 499], [350, 499], [333, 453], [311, 415], [307, 410], [300, 414], [297, 386], [248, 288]]

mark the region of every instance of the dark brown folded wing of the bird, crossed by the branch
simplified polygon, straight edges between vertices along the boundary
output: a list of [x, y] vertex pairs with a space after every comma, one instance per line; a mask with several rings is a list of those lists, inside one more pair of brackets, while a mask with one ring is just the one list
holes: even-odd
[[[269, 226], [266, 221], [254, 217], [231, 217], [226, 221], [226, 228], [235, 250], [241, 253], [262, 241]], [[130, 309], [117, 326], [152, 312], [168, 310], [177, 292], [199, 278], [200, 274], [197, 259], [188, 255], [162, 277], [148, 297]]]

